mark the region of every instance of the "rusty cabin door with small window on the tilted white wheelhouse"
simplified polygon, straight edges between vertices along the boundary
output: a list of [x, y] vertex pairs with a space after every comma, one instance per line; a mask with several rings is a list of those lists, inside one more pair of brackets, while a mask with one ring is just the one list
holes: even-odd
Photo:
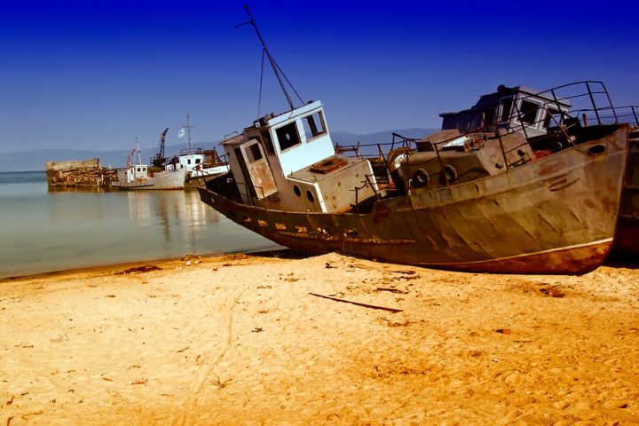
[[277, 193], [278, 188], [275, 185], [271, 167], [266, 161], [264, 149], [257, 139], [251, 139], [242, 144], [238, 151], [240, 153], [237, 153], [237, 151], [236, 153], [241, 154], [238, 155], [238, 161], [250, 193], [260, 200], [272, 193]]

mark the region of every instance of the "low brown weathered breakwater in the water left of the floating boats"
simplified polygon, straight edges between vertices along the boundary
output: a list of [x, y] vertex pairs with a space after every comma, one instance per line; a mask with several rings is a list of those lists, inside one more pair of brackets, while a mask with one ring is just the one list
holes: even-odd
[[75, 162], [47, 162], [45, 164], [49, 186], [109, 187], [117, 179], [117, 171], [99, 164], [99, 158]]

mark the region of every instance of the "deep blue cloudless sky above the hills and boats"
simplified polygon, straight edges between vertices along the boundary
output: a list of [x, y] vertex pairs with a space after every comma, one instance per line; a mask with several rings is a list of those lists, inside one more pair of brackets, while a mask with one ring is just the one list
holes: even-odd
[[[0, 3], [0, 152], [169, 145], [257, 116], [261, 45], [330, 130], [437, 128], [499, 84], [601, 80], [639, 104], [639, 2]], [[261, 113], [286, 100], [264, 69]], [[60, 159], [52, 159], [60, 160]]]

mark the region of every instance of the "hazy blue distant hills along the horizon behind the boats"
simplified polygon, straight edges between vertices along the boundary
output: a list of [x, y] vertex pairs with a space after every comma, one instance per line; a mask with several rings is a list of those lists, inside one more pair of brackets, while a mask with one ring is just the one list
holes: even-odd
[[[422, 138], [429, 135], [438, 129], [400, 129], [400, 130], [385, 130], [376, 133], [369, 133], [365, 135], [359, 135], [356, 133], [348, 133], [343, 131], [331, 132], [331, 137], [335, 144], [342, 146], [357, 145], [358, 141], [361, 145], [367, 144], [388, 144], [392, 141], [393, 131], [406, 136], [407, 138]], [[196, 145], [203, 149], [211, 149], [218, 146], [217, 142], [205, 142]], [[172, 145], [165, 148], [167, 156], [179, 154], [179, 152], [186, 147], [186, 144]], [[154, 156], [155, 149], [142, 150], [142, 162], [149, 162], [149, 159]], [[374, 151], [375, 148], [374, 148]], [[217, 148], [218, 154], [224, 154], [222, 150]], [[0, 154], [0, 171], [30, 171], [30, 170], [44, 170], [45, 162], [70, 162], [79, 160], [88, 160], [90, 158], [98, 157], [102, 166], [108, 167], [109, 165], [114, 168], [122, 168], [126, 165], [126, 151], [99, 151], [99, 150], [86, 150], [86, 149], [40, 149], [34, 151], [15, 151], [11, 153]], [[136, 155], [137, 159], [137, 155]]]

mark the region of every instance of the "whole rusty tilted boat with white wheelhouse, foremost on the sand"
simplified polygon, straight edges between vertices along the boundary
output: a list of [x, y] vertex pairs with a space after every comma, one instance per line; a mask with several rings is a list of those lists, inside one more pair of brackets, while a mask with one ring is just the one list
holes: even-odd
[[[592, 82], [584, 83], [594, 104]], [[459, 271], [588, 272], [613, 241], [628, 126], [582, 127], [548, 92], [564, 117], [543, 134], [526, 138], [495, 118], [472, 131], [403, 138], [375, 159], [335, 153], [321, 102], [294, 107], [287, 95], [287, 113], [222, 142], [231, 172], [200, 186], [201, 200], [310, 253]]]

